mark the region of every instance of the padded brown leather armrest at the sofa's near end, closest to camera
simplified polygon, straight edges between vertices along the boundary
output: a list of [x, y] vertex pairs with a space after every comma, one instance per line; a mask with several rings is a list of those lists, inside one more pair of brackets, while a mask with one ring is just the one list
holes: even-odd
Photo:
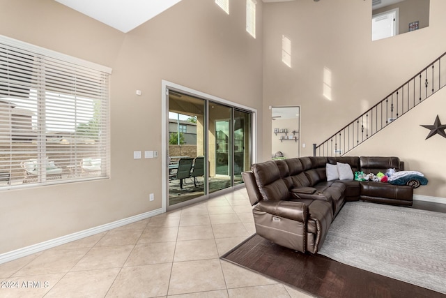
[[263, 200], [256, 205], [255, 209], [300, 223], [307, 221], [307, 205], [302, 202]]

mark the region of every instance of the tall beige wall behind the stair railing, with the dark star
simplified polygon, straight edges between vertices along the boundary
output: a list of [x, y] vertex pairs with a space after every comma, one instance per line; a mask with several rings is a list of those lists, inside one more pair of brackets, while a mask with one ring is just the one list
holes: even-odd
[[[306, 144], [301, 156], [312, 156], [313, 143], [336, 133], [446, 50], [446, 39], [440, 38], [446, 29], [443, 0], [431, 0], [429, 27], [373, 42], [371, 0], [266, 3], [263, 10], [263, 160], [270, 158], [271, 149], [269, 105], [301, 106], [300, 137]], [[282, 63], [282, 35], [292, 42], [291, 68]], [[323, 96], [324, 68], [332, 74], [332, 100]], [[379, 145], [366, 142], [355, 155], [381, 155], [385, 148], [385, 155], [408, 161], [409, 170], [429, 172], [432, 183], [415, 193], [446, 198], [446, 189], [438, 188], [446, 180], [446, 159], [440, 154], [446, 139], [437, 135], [424, 141], [429, 131], [420, 126], [433, 124], [436, 114], [446, 123], [446, 112], [429, 105], [431, 110], [417, 107], [406, 114], [404, 128], [392, 128], [394, 133], [386, 128]], [[405, 147], [394, 142], [402, 136]], [[436, 154], [415, 149], [420, 146]]]

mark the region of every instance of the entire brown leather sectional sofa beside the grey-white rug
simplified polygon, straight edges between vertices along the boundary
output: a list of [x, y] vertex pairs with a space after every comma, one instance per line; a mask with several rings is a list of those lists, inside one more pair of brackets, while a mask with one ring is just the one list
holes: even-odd
[[266, 161], [243, 172], [256, 233], [302, 253], [317, 253], [328, 228], [348, 201], [412, 205], [411, 186], [375, 181], [327, 181], [326, 164], [348, 163], [352, 172], [403, 170], [397, 157], [301, 157]]

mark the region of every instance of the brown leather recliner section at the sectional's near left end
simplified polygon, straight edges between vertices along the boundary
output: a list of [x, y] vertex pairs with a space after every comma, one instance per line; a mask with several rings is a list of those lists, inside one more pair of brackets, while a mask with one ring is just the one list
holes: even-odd
[[293, 200], [274, 161], [255, 164], [252, 172], [242, 174], [249, 201], [256, 204], [256, 233], [281, 246], [316, 253], [332, 222], [332, 204]]

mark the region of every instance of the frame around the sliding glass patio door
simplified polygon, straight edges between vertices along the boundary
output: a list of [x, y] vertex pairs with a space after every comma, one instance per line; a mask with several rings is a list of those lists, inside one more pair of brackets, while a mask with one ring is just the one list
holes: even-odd
[[[239, 110], [245, 110], [246, 112], [252, 113], [252, 123], [251, 123], [251, 163], [255, 163], [257, 160], [257, 154], [256, 154], [256, 128], [257, 128], [257, 110], [252, 107], [247, 107], [245, 105], [240, 105], [239, 103], [233, 103], [229, 100], [226, 100], [224, 98], [219, 98], [217, 96], [213, 96], [210, 94], [203, 93], [198, 90], [194, 90], [185, 86], [181, 86], [180, 84], [176, 84], [174, 82], [169, 82], [167, 80], [162, 80], [161, 83], [161, 114], [162, 114], [162, 126], [161, 126], [161, 174], [162, 174], [162, 211], [166, 212], [169, 210], [177, 209], [180, 207], [183, 207], [186, 204], [191, 204], [194, 202], [199, 202], [201, 200], [208, 200], [209, 198], [212, 198], [213, 196], [219, 195], [222, 192], [228, 192], [233, 191], [235, 188], [242, 188], [245, 187], [244, 184], [239, 184], [237, 186], [232, 185], [230, 188], [225, 188], [222, 191], [216, 191], [215, 193], [208, 193], [203, 195], [203, 197], [192, 199], [188, 202], [175, 204], [173, 206], [169, 206], [168, 200], [169, 200], [169, 173], [167, 171], [167, 166], [169, 165], [169, 147], [167, 146], [167, 141], [169, 140], [169, 90], [176, 91], [179, 93], [187, 94], [196, 98], [201, 98], [203, 100], [206, 100], [206, 123], [208, 123], [208, 117], [209, 117], [209, 111], [208, 111], [208, 103], [213, 101], [215, 103], [220, 103], [222, 105], [228, 105], [229, 107], [236, 108]], [[233, 110], [232, 110], [233, 114]], [[208, 128], [205, 130], [205, 156], [209, 156], [209, 148], [208, 148]], [[207, 161], [206, 162], [206, 171], [208, 171]], [[233, 170], [231, 171], [231, 179], [233, 179]], [[208, 183], [208, 179], [205, 179]], [[207, 185], [206, 189], [208, 190], [209, 187]]]

